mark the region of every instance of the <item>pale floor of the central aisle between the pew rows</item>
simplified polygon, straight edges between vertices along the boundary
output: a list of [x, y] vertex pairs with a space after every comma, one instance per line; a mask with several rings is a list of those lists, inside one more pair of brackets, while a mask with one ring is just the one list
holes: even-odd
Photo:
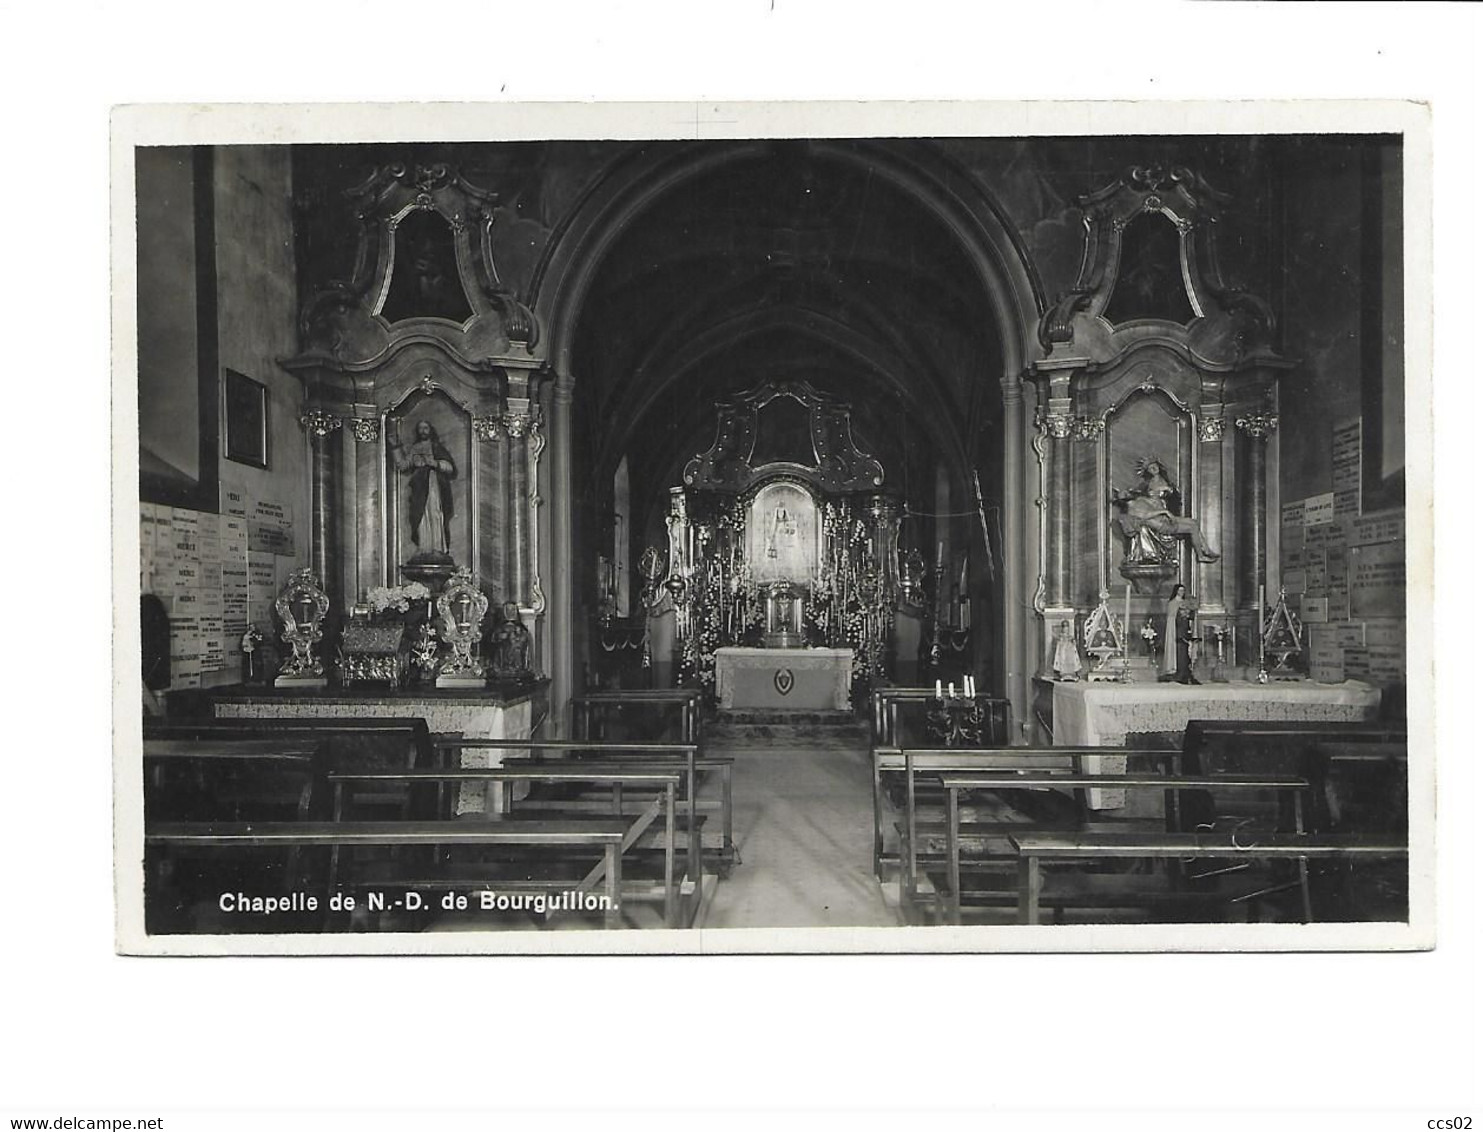
[[894, 927], [871, 872], [871, 761], [863, 742], [801, 746], [737, 740], [742, 863], [701, 909], [700, 927]]

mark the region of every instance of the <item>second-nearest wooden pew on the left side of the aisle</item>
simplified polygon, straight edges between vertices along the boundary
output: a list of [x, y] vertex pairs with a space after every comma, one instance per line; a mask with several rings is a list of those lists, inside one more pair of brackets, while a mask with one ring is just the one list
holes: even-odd
[[[661, 896], [664, 902], [664, 923], [669, 927], [679, 926], [679, 884], [675, 874], [675, 798], [679, 786], [684, 780], [684, 773], [678, 769], [673, 770], [635, 770], [632, 767], [598, 764], [598, 763], [546, 763], [531, 767], [463, 767], [463, 769], [448, 769], [448, 770], [371, 770], [371, 771], [347, 771], [334, 773], [329, 776], [329, 782], [335, 791], [335, 819], [340, 820], [340, 797], [344, 785], [347, 782], [408, 782], [420, 783], [430, 782], [437, 785], [445, 783], [461, 783], [461, 782], [580, 782], [580, 783], [599, 783], [608, 785], [614, 789], [614, 816], [623, 817], [623, 788], [657, 788], [658, 795], [651, 801], [636, 817], [633, 817], [627, 831], [624, 832], [623, 841], [618, 846], [618, 853], [627, 852], [638, 840], [650, 829], [650, 826], [663, 816], [664, 819], [664, 837], [663, 837], [663, 852], [664, 852], [664, 881], [661, 889]], [[439, 807], [440, 809], [440, 807]], [[559, 815], [559, 817], [571, 817], [572, 815]], [[509, 817], [506, 820], [510, 820]], [[586, 877], [583, 877], [575, 890], [587, 892], [599, 880], [602, 880], [604, 865], [598, 865]], [[446, 881], [449, 878], [435, 878], [427, 884], [436, 886], [440, 880]], [[630, 898], [644, 898], [645, 890], [633, 887], [629, 893]], [[696, 908], [698, 908], [698, 901], [696, 901]]]

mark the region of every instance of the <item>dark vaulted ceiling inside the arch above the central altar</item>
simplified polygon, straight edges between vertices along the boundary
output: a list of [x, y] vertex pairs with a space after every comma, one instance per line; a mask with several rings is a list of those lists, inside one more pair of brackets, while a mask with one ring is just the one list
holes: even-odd
[[636, 484], [679, 482], [718, 399], [802, 378], [854, 405], [860, 447], [902, 490], [997, 402], [995, 334], [937, 218], [868, 166], [768, 145], [655, 200], [604, 260], [572, 352], [590, 472], [627, 454]]

